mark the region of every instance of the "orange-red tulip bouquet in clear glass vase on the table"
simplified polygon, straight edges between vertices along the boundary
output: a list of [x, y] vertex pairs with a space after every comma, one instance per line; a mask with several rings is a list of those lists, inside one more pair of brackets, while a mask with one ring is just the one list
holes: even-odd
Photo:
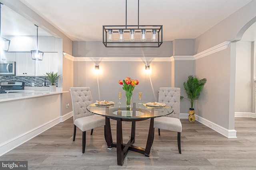
[[132, 98], [132, 91], [134, 90], [135, 86], [139, 84], [139, 80], [133, 80], [130, 77], [126, 77], [125, 80], [119, 80], [118, 83], [123, 85], [123, 90], [125, 90], [126, 95], [126, 105], [131, 105], [131, 98]]

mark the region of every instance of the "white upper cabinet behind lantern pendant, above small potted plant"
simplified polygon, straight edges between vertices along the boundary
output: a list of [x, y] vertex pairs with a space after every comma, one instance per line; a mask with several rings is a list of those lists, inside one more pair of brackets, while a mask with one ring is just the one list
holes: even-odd
[[35, 63], [35, 75], [44, 76], [46, 72], [58, 72], [58, 53], [44, 53], [42, 61]]

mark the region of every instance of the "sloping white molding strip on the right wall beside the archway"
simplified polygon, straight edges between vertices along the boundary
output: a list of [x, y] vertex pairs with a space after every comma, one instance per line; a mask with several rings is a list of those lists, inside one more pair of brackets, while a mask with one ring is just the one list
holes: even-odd
[[222, 51], [224, 49], [227, 49], [229, 44], [230, 44], [230, 41], [225, 41], [225, 42], [220, 43], [220, 44], [218, 44], [218, 45], [216, 45], [214, 47], [211, 47], [210, 49], [207, 49], [205, 51], [197, 53], [196, 55], [194, 55], [194, 58], [197, 60], [197, 59], [200, 59], [202, 57], [206, 57], [208, 55], [216, 53], [218, 51]]

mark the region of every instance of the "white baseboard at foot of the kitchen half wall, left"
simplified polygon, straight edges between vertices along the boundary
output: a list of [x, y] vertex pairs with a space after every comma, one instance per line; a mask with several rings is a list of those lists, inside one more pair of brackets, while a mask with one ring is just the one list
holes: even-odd
[[22, 145], [26, 141], [29, 141], [30, 139], [36, 137], [37, 135], [43, 133], [44, 131], [46, 131], [48, 129], [50, 129], [51, 127], [57, 125], [58, 123], [61, 122], [61, 120], [63, 118], [66, 119], [68, 117], [68, 115], [69, 115], [69, 113], [64, 115], [64, 117], [57, 117], [56, 119], [53, 119], [51, 121], [44, 123], [43, 125], [35, 127], [34, 129], [31, 129], [30, 131], [28, 131], [24, 134], [21, 134], [21, 135], [15, 137], [15, 138], [12, 138], [4, 143], [1, 143], [0, 156], [2, 156], [3, 154], [6, 154], [10, 150]]

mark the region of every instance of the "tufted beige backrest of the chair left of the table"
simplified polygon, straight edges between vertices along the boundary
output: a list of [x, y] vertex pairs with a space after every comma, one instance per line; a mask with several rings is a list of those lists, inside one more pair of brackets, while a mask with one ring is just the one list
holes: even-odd
[[93, 103], [90, 87], [71, 87], [69, 88], [72, 99], [73, 119], [93, 115], [87, 111], [86, 107]]

